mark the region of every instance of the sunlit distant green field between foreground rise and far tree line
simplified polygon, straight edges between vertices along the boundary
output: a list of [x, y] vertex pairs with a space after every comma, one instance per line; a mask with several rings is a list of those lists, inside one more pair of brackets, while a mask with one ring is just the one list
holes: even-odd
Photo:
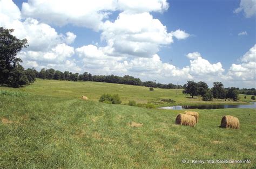
[[[1, 89], [8, 89], [0, 87]], [[41, 80], [37, 79], [35, 83], [30, 86], [19, 89], [11, 90], [23, 90], [37, 95], [57, 96], [65, 98], [80, 98], [82, 95], [89, 97], [92, 101], [98, 101], [99, 97], [104, 93], [119, 94], [122, 104], [134, 100], [137, 103], [153, 102], [162, 105], [191, 105], [191, 104], [242, 104], [246, 101], [251, 101], [251, 96], [248, 95], [247, 99], [244, 99], [244, 95], [240, 95], [239, 101], [234, 102], [232, 100], [213, 100], [211, 102], [205, 102], [201, 100], [201, 97], [191, 98], [189, 95], [182, 94], [183, 89], [160, 89], [154, 88], [154, 91], [150, 91], [148, 87], [120, 85], [113, 83], [102, 82], [72, 82], [72, 81], [56, 81], [56, 80]], [[172, 99], [175, 103], [164, 103], [161, 99]]]

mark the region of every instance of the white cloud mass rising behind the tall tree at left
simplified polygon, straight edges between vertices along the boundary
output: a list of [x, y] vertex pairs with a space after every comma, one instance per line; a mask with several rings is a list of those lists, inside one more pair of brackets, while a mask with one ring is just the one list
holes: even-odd
[[75, 49], [67, 44], [75, 40], [74, 33], [59, 34], [50, 25], [36, 19], [22, 19], [21, 11], [11, 0], [0, 1], [0, 16], [0, 26], [14, 29], [14, 36], [28, 40], [29, 47], [18, 54], [25, 67], [41, 68], [50, 64], [61, 67], [67, 65], [68, 59], [72, 60]]

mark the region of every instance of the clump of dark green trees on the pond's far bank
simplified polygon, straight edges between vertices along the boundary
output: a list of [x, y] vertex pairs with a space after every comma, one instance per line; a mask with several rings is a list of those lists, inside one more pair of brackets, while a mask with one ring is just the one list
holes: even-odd
[[205, 82], [187, 81], [184, 88], [184, 94], [189, 94], [192, 98], [193, 96], [202, 96], [203, 101], [211, 101], [213, 98], [231, 98], [237, 101], [239, 94], [238, 88], [231, 87], [225, 89], [221, 82], [213, 82], [213, 87], [210, 89]]

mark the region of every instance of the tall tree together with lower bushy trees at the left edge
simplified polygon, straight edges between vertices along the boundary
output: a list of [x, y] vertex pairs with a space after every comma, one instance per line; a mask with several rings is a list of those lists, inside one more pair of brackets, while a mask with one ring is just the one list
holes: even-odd
[[0, 27], [0, 83], [1, 86], [18, 88], [30, 85], [36, 80], [35, 69], [24, 69], [21, 58], [16, 57], [22, 48], [27, 47], [26, 39], [18, 39], [11, 34], [13, 29]]

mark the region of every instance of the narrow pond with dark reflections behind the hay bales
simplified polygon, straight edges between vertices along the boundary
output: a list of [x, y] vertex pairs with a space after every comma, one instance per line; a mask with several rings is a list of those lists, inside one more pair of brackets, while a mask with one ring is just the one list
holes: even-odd
[[256, 102], [253, 104], [201, 104], [201, 105], [174, 105], [170, 107], [160, 107], [166, 110], [183, 110], [183, 109], [228, 109], [228, 108], [249, 108], [256, 109]]

